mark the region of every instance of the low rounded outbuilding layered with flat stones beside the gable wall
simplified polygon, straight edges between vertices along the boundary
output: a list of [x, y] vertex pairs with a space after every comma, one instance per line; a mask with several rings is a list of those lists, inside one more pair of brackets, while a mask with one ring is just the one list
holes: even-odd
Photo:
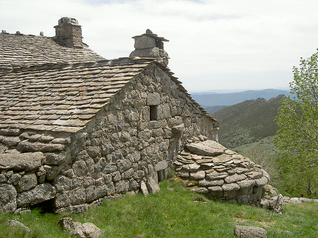
[[222, 201], [260, 203], [270, 178], [259, 165], [204, 136], [188, 142], [174, 162], [177, 182]]

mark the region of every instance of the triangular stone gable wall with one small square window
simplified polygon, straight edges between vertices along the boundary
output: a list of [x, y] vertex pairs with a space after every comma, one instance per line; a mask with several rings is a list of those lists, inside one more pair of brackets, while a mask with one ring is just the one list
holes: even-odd
[[[151, 119], [151, 107], [157, 108], [156, 119]], [[146, 68], [73, 143], [72, 163], [53, 180], [56, 211], [138, 192], [147, 178], [165, 179], [187, 138], [205, 134], [217, 139], [216, 126], [166, 73]]]

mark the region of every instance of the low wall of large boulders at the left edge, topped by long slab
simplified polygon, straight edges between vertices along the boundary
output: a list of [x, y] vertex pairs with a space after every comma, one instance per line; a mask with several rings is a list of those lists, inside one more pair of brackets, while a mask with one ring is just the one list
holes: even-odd
[[42, 152], [0, 154], [0, 212], [54, 198], [56, 189], [45, 182], [48, 168]]

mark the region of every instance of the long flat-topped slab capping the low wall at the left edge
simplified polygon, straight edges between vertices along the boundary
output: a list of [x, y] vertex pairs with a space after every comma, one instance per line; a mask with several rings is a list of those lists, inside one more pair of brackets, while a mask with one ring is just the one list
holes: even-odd
[[28, 172], [39, 168], [43, 160], [42, 152], [0, 154], [0, 169]]

